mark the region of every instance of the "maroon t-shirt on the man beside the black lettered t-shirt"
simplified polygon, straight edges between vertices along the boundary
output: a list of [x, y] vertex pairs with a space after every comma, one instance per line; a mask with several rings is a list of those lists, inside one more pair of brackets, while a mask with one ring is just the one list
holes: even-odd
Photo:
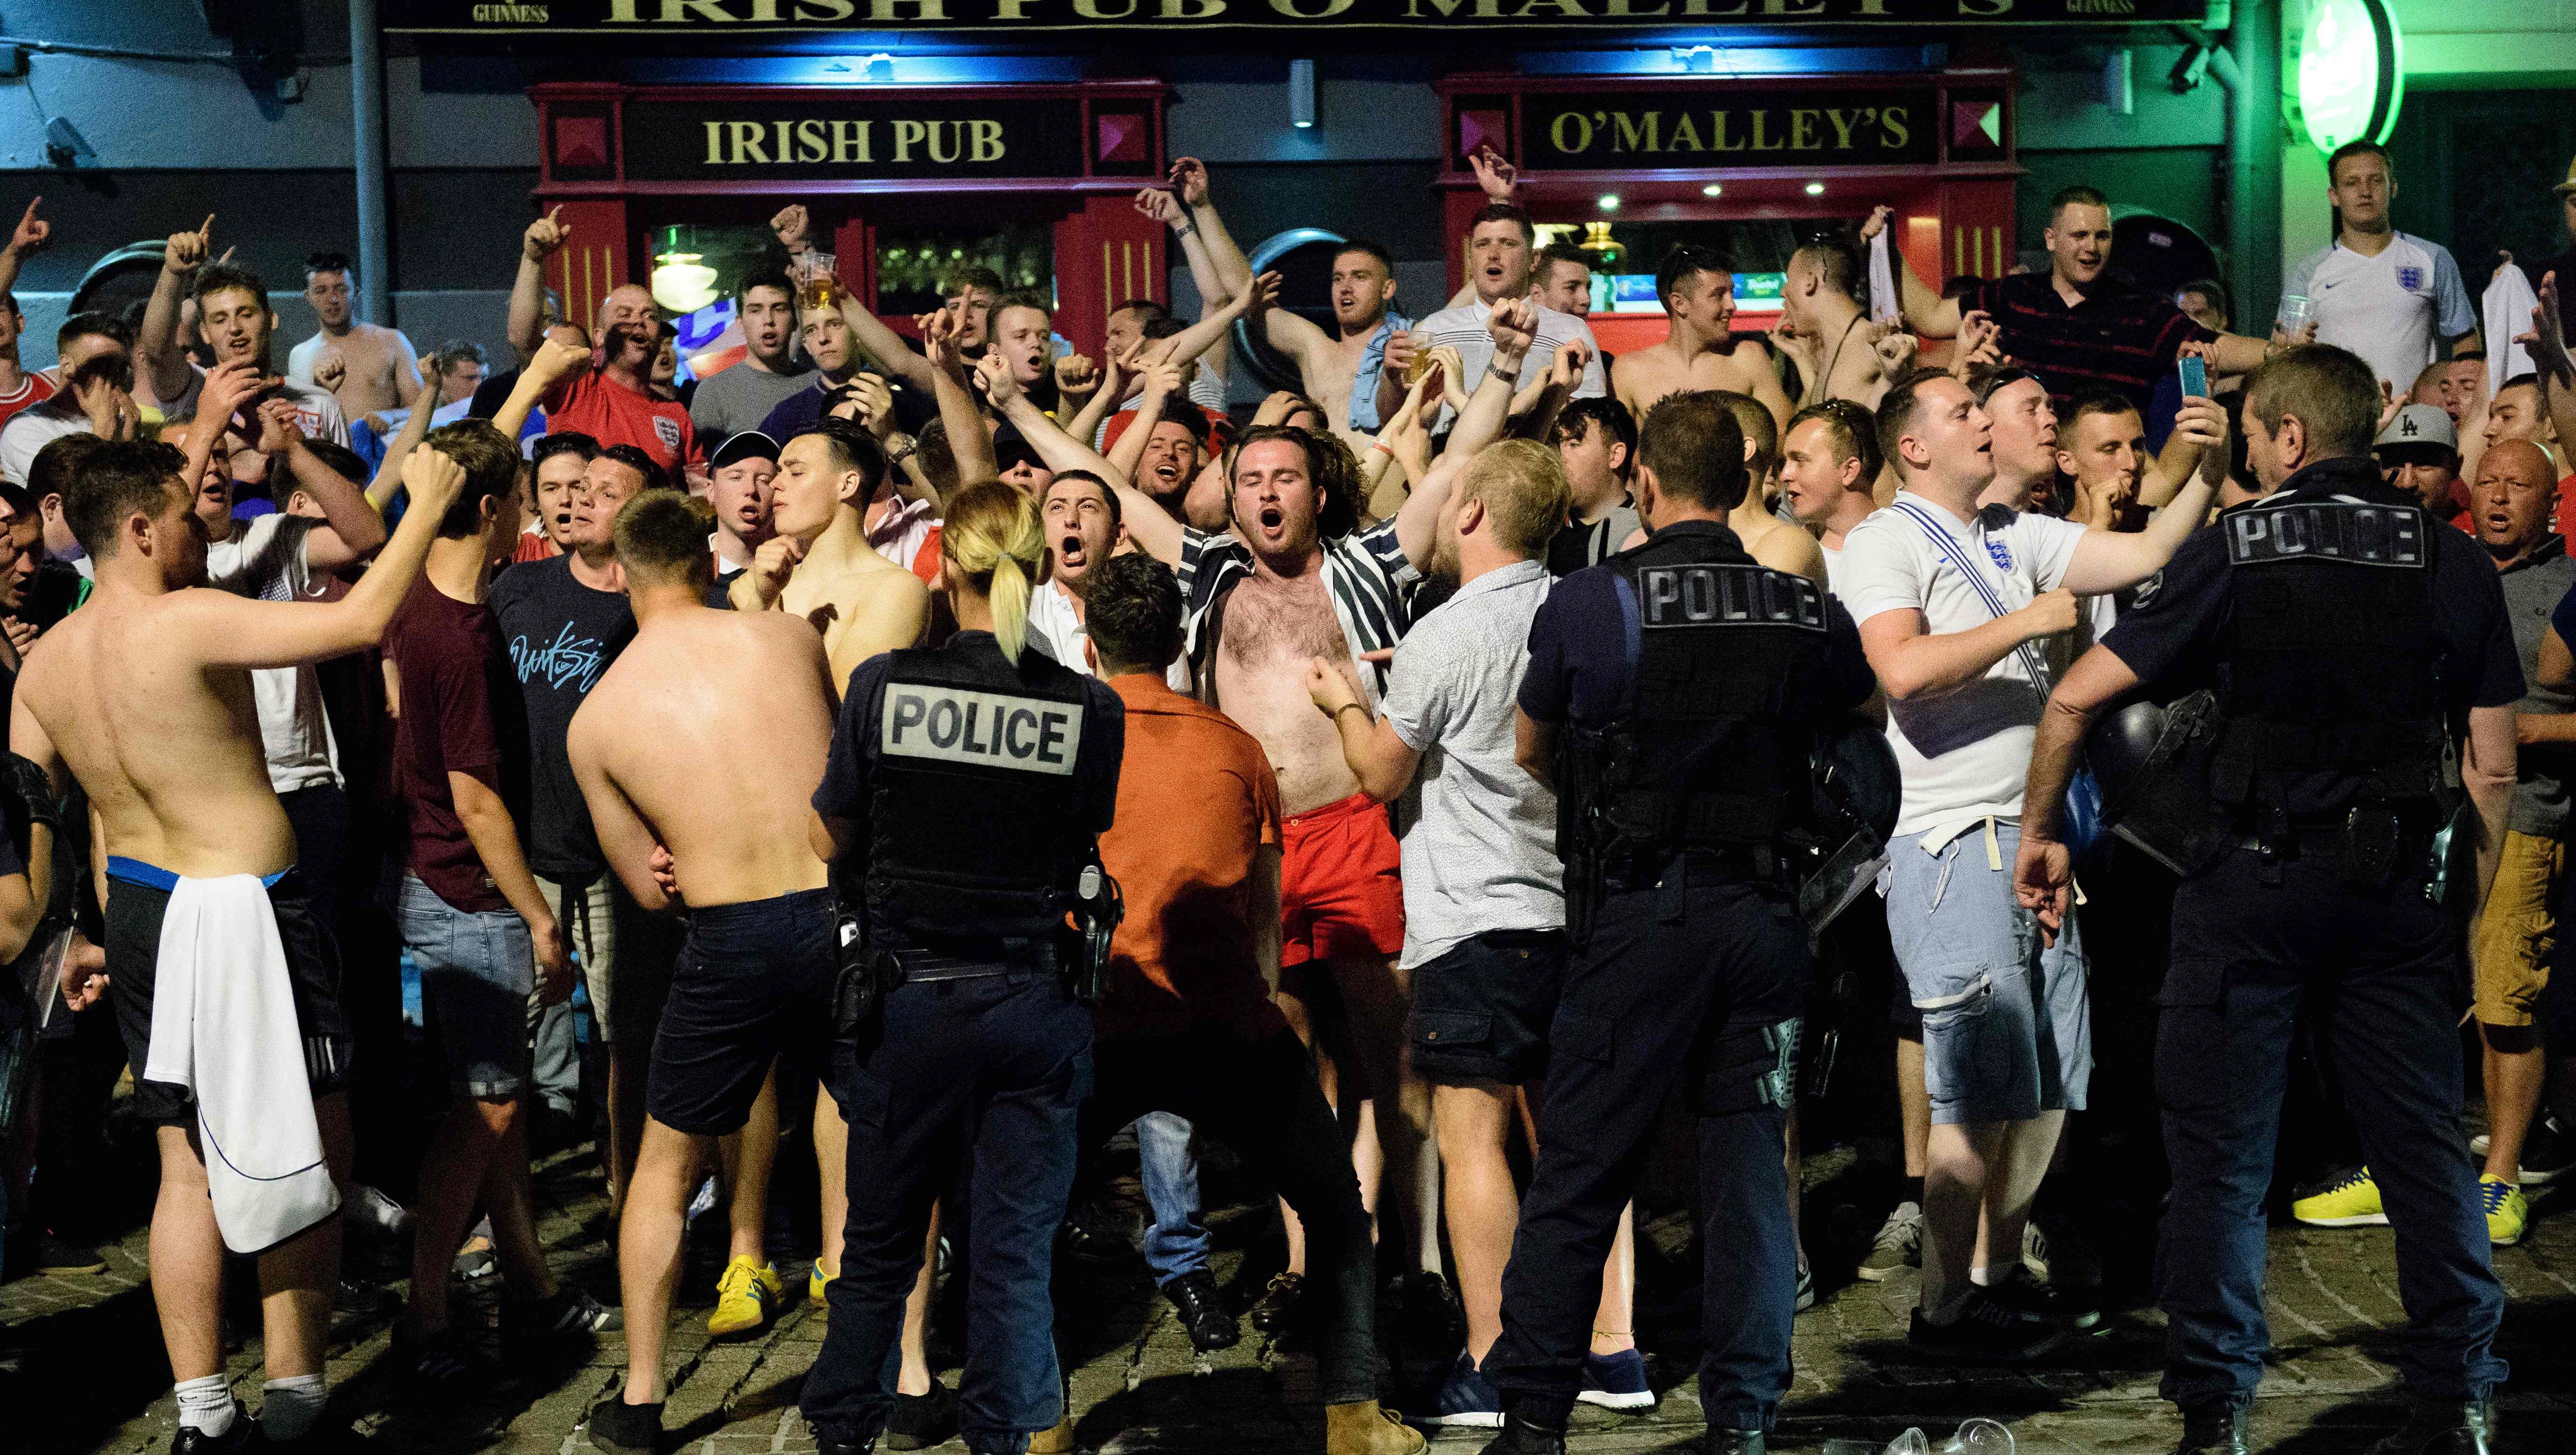
[[526, 734], [495, 721], [515, 700], [505, 688], [510, 659], [500, 649], [500, 623], [492, 608], [456, 600], [422, 577], [384, 631], [384, 657], [402, 693], [392, 783], [402, 803], [404, 868], [456, 909], [507, 909], [448, 791], [448, 773], [464, 773], [513, 803], [513, 814], [526, 806], [526, 796], [513, 793], [523, 775], [505, 760], [505, 744]]

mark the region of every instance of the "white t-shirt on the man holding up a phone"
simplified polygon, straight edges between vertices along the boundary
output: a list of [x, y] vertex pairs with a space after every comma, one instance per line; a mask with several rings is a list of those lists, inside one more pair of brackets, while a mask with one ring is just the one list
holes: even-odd
[[[1999, 505], [1960, 520], [1909, 489], [1855, 525], [1829, 569], [1855, 623], [1919, 610], [1927, 634], [1950, 636], [2058, 590], [2081, 538], [2081, 525]], [[2048, 690], [2040, 646], [2007, 652], [1981, 680], [1953, 693], [1888, 700], [1888, 747], [1904, 773], [1899, 834], [2020, 816]]]

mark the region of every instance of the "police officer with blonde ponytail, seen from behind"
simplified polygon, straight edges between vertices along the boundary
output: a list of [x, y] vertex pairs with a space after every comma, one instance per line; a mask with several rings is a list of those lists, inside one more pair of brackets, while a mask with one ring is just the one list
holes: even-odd
[[1074, 994], [1084, 945], [1066, 912], [1118, 806], [1126, 718], [1108, 685], [1025, 649], [1043, 556], [1025, 494], [956, 494], [940, 556], [956, 639], [850, 675], [814, 791], [842, 883], [858, 886], [845, 904], [860, 901], [842, 927], [832, 1051], [850, 1226], [804, 1383], [827, 1455], [876, 1447], [930, 1203], [969, 1141], [961, 1434], [979, 1455], [1018, 1455], [1064, 1419], [1048, 1254], [1092, 1082], [1092, 1015]]

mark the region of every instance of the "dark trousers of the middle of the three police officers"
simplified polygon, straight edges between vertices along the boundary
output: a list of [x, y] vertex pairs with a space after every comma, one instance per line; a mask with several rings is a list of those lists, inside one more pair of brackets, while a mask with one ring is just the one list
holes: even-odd
[[1566, 1427], [1602, 1259], [1646, 1167], [1646, 1133], [1682, 1087], [1700, 1123], [1700, 1409], [1716, 1429], [1770, 1429], [1788, 1391], [1798, 1241], [1788, 1107], [1757, 1079], [1777, 1066], [1762, 1030], [1806, 1007], [1811, 973], [1806, 927], [1780, 888], [1710, 876], [1602, 899], [1548, 1028], [1538, 1167], [1502, 1272], [1502, 1339], [1481, 1365], [1507, 1414]]

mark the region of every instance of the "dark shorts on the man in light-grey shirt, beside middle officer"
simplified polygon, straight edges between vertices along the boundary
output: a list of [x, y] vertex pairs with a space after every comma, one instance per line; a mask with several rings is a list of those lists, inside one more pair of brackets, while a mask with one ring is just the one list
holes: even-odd
[[1486, 930], [1414, 966], [1404, 1040], [1440, 1087], [1535, 1087], [1548, 1074], [1548, 1022], [1566, 986], [1564, 930]]

